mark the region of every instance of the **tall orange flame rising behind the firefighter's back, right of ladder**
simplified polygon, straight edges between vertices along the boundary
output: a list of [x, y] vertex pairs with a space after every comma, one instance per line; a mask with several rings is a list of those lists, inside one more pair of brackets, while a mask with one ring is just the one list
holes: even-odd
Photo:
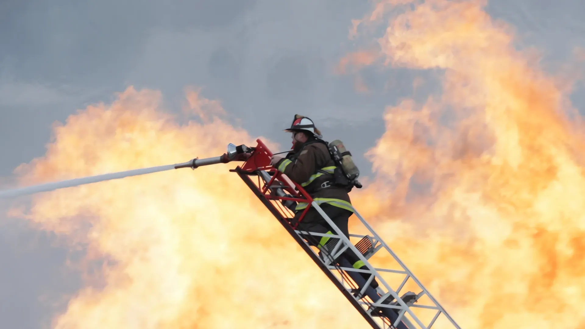
[[386, 109], [355, 203], [462, 328], [584, 328], [585, 125], [565, 81], [485, 1], [391, 2], [362, 20], [394, 15], [378, 59], [440, 70], [442, 92]]

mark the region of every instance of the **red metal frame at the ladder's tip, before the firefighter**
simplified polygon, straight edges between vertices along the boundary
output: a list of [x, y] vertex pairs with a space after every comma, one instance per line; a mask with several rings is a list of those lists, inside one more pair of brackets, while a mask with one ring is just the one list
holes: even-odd
[[[253, 173], [256, 170], [266, 170], [272, 176], [270, 181], [260, 189], [260, 193], [263, 194], [269, 200], [292, 200], [297, 202], [304, 202], [307, 203], [307, 208], [302, 212], [301, 216], [298, 218], [297, 222], [294, 224], [292, 228], [296, 229], [298, 224], [305, 218], [307, 215], [307, 211], [311, 208], [311, 203], [313, 202], [313, 198], [309, 196], [307, 191], [302, 188], [300, 184], [296, 181], [292, 181], [291, 179], [284, 179], [283, 173], [279, 172], [276, 168], [270, 165], [271, 157], [273, 153], [267, 148], [266, 145], [260, 140], [256, 139], [258, 145], [254, 152], [252, 152], [252, 156], [250, 156], [246, 162], [242, 165], [241, 170], [246, 173]], [[270, 194], [270, 186], [274, 183], [274, 181], [278, 181], [282, 184], [281, 188], [288, 193], [291, 194], [292, 197], [280, 197], [274, 194]], [[288, 182], [291, 182], [292, 185]]]

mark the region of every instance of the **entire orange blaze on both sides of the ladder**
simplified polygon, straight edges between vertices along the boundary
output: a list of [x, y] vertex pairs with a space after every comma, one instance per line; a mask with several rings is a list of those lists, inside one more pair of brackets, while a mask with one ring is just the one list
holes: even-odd
[[[379, 2], [353, 21], [352, 37], [410, 2]], [[444, 73], [441, 94], [387, 109], [387, 131], [367, 153], [376, 179], [352, 197], [462, 328], [583, 328], [585, 126], [567, 115], [562, 81], [514, 49], [510, 28], [484, 5], [407, 6], [393, 12], [379, 54], [369, 48], [342, 61]], [[254, 144], [197, 91], [187, 99], [202, 124], [177, 124], [160, 97], [129, 88], [111, 105], [70, 116], [46, 156], [19, 168], [23, 183]], [[35, 196], [22, 216], [111, 260], [104, 287], [88, 282], [54, 327], [367, 327], [231, 167]]]

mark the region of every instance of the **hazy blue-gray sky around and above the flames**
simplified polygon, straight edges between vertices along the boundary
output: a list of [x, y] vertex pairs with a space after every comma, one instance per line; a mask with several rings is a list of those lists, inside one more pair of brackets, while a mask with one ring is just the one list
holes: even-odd
[[[285, 145], [290, 117], [311, 116], [367, 172], [357, 155], [383, 133], [384, 106], [408, 96], [415, 77], [396, 70], [401, 84], [381, 92], [388, 73], [367, 71], [376, 92], [363, 95], [352, 77], [332, 73], [352, 50], [350, 20], [368, 9], [356, 0], [0, 0], [0, 177], [43, 155], [54, 121], [129, 84], [161, 90], [171, 108], [185, 85], [203, 87], [252, 135]], [[585, 46], [582, 0], [493, 0], [488, 9], [548, 61]], [[67, 249], [54, 235], [2, 223], [0, 318], [6, 328], [43, 327], [79, 275], [64, 267]]]

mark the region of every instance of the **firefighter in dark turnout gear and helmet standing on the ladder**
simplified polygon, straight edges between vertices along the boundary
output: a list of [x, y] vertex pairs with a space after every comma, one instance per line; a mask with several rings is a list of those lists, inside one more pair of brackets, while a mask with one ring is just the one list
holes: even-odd
[[[285, 129], [291, 132], [292, 150], [286, 157], [275, 155], [271, 159], [271, 165], [279, 172], [284, 173], [291, 180], [300, 184], [313, 200], [321, 207], [329, 218], [337, 225], [343, 234], [349, 238], [347, 222], [353, 214], [353, 207], [349, 199], [349, 186], [338, 186], [334, 183], [333, 161], [328, 144], [322, 140], [321, 132], [315, 128], [313, 121], [305, 116], [295, 115], [291, 127]], [[291, 224], [298, 222], [307, 203], [299, 203], [295, 208], [295, 216]], [[322, 234], [335, 234], [331, 226], [311, 207], [300, 221], [297, 229], [300, 231], [316, 232]], [[305, 236], [309, 244], [319, 248], [320, 254], [328, 255], [335, 247], [336, 238]], [[347, 249], [342, 257], [345, 257], [353, 268], [367, 270], [367, 266], [350, 250]], [[332, 263], [335, 263], [333, 261]], [[362, 273], [364, 279], [369, 279], [368, 273]], [[378, 287], [376, 279], [370, 284], [374, 289]]]

